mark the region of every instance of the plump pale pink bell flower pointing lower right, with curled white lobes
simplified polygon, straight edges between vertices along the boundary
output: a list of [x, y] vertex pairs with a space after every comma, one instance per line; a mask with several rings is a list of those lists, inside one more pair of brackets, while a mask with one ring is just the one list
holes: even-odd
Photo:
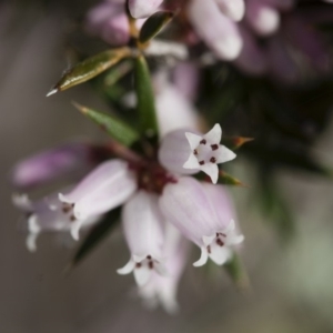
[[201, 258], [194, 266], [205, 264], [209, 258], [219, 265], [224, 264], [231, 249], [244, 239], [235, 232], [233, 220], [220, 219], [210, 196], [196, 180], [181, 178], [176, 184], [168, 184], [160, 199], [164, 216], [200, 246]]

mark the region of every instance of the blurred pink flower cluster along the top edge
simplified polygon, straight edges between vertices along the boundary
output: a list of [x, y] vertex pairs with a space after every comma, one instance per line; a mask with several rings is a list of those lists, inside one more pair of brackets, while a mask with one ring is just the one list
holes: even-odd
[[[330, 0], [189, 0], [130, 1], [131, 13], [141, 27], [158, 7], [181, 12], [188, 24], [178, 40], [189, 47], [203, 41], [212, 56], [232, 61], [245, 73], [272, 74], [284, 82], [300, 80], [304, 65], [312, 73], [332, 68], [329, 46], [313, 29], [332, 20]], [[323, 2], [326, 2], [323, 3]], [[304, 6], [303, 6], [304, 4]], [[189, 26], [191, 27], [189, 29]], [[105, 0], [92, 9], [87, 29], [111, 46], [130, 40], [124, 0]]]

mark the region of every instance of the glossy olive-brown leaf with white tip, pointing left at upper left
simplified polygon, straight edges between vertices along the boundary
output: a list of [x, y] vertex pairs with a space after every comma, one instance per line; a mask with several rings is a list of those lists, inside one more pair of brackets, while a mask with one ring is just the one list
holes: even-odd
[[131, 50], [129, 48], [120, 48], [108, 50], [90, 57], [65, 71], [60, 81], [51, 89], [51, 91], [47, 95], [85, 82], [105, 71], [110, 67], [114, 65], [121, 59], [129, 57], [130, 54]]

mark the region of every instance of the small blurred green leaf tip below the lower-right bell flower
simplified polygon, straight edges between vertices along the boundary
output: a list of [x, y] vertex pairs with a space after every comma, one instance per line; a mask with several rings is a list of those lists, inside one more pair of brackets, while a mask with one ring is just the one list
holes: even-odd
[[242, 262], [242, 259], [236, 252], [233, 252], [232, 259], [228, 261], [223, 268], [238, 289], [250, 289], [250, 280], [246, 269]]

